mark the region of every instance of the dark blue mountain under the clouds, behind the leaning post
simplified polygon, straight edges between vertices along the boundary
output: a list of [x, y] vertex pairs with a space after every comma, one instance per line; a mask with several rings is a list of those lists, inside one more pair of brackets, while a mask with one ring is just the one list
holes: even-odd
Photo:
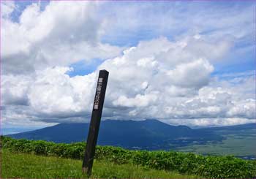
[[[53, 142], [86, 141], [89, 123], [59, 123], [31, 132], [10, 134], [13, 138], [47, 140]], [[222, 141], [221, 135], [205, 129], [191, 129], [188, 126], [171, 126], [157, 120], [145, 121], [102, 121], [98, 144], [124, 148], [148, 150], [169, 150], [190, 144]]]

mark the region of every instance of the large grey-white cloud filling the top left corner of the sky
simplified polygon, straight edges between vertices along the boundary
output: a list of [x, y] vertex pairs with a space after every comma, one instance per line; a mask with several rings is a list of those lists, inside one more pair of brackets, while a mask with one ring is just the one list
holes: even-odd
[[24, 74], [120, 53], [121, 47], [100, 42], [104, 20], [96, 18], [97, 3], [50, 1], [43, 11], [39, 3], [33, 3], [23, 10], [18, 22], [10, 18], [15, 5], [1, 3], [1, 62], [5, 74]]

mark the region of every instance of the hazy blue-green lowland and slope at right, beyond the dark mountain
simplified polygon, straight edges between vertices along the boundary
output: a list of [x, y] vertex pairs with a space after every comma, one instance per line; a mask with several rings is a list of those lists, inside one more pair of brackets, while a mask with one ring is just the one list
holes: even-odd
[[256, 123], [246, 123], [236, 126], [222, 126], [198, 129], [214, 132], [224, 137], [222, 142], [204, 145], [187, 145], [176, 148], [177, 151], [201, 153], [207, 155], [234, 155], [242, 159], [256, 159]]

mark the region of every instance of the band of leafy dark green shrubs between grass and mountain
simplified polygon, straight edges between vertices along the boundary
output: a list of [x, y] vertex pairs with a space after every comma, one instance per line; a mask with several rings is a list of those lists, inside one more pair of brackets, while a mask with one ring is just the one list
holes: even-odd
[[[85, 148], [84, 142], [56, 144], [45, 141], [14, 140], [10, 137], [1, 137], [1, 142], [2, 148], [6, 151], [59, 156], [69, 159], [83, 159]], [[129, 151], [123, 148], [97, 146], [95, 158], [97, 161], [103, 160], [113, 162], [113, 164], [133, 164], [140, 167], [174, 171], [206, 178], [256, 177], [255, 161], [246, 161], [233, 156], [200, 156], [174, 151]], [[116, 170], [116, 173], [118, 173], [118, 170]], [[105, 177], [101, 176], [100, 178]], [[122, 176], [121, 178], [132, 178], [132, 176]]]

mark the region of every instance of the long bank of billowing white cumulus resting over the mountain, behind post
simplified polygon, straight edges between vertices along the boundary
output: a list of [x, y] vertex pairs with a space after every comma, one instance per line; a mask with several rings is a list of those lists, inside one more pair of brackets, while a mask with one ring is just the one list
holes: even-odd
[[[157, 118], [191, 126], [255, 121], [254, 87], [250, 93], [246, 91], [254, 81], [252, 76], [243, 80], [211, 77], [214, 66], [205, 56], [187, 51], [182, 45], [187, 42], [170, 42], [164, 37], [140, 42], [84, 76], [69, 77], [67, 72], [72, 68], [61, 66], [38, 70], [30, 78], [7, 75], [3, 83], [4, 103], [27, 105], [30, 112], [24, 110], [23, 114], [33, 121], [88, 121], [98, 70], [107, 69], [110, 77], [104, 118]], [[181, 61], [168, 58], [183, 52], [190, 56]], [[236, 122], [232, 122], [234, 118]]]

